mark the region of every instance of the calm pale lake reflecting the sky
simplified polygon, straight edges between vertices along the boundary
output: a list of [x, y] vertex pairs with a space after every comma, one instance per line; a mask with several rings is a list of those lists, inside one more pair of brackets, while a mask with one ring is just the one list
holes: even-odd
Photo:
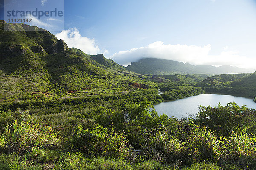
[[217, 106], [218, 103], [226, 106], [229, 102], [236, 102], [237, 105], [246, 105], [248, 108], [256, 109], [256, 103], [253, 99], [245, 97], [236, 97], [221, 94], [200, 94], [197, 96], [187, 97], [168, 102], [162, 102], [154, 105], [158, 115], [166, 114], [170, 117], [176, 116], [178, 119], [195, 115], [198, 112], [198, 106]]

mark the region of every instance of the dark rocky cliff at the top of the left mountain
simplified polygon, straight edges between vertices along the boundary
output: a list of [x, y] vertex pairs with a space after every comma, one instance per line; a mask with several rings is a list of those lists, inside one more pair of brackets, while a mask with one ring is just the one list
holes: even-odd
[[[5, 27], [9, 31], [5, 31]], [[0, 59], [17, 57], [27, 51], [55, 54], [69, 50], [63, 40], [58, 40], [49, 31], [23, 23], [0, 21], [0, 37], [3, 37], [0, 39]]]

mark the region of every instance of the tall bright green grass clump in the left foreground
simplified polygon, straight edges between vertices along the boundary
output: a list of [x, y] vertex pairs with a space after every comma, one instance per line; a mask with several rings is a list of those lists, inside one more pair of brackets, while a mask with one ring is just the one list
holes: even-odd
[[56, 147], [58, 139], [51, 127], [40, 123], [13, 122], [0, 134], [0, 149], [6, 153], [30, 153], [33, 147]]

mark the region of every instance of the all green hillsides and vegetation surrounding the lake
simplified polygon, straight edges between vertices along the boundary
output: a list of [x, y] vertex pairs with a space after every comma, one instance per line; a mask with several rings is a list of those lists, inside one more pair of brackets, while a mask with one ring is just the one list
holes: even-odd
[[178, 120], [158, 116], [153, 107], [205, 91], [254, 97], [255, 74], [137, 74], [102, 54], [69, 49], [41, 28], [13, 23], [8, 26], [15, 32], [5, 32], [3, 24], [0, 169], [256, 167], [255, 110], [235, 103], [201, 106], [196, 117]]

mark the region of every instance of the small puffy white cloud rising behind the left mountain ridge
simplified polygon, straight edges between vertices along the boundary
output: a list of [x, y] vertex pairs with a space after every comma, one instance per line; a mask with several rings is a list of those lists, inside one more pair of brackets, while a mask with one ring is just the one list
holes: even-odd
[[[94, 39], [90, 39], [87, 37], [82, 37], [79, 29], [77, 28], [70, 28], [69, 30], [63, 30], [61, 33], [58, 33], [55, 35], [58, 39], [63, 39], [69, 48], [75, 47], [82, 51], [84, 51], [86, 54], [99, 54], [101, 52], [101, 49], [98, 45], [96, 45], [96, 42]], [[102, 54], [107, 54], [108, 51], [105, 50], [102, 52]]]

